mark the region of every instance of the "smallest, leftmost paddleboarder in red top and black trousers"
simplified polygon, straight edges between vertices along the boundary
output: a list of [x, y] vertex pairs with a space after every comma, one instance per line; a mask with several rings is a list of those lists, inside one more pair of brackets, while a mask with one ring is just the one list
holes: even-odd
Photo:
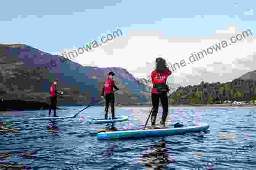
[[56, 115], [56, 109], [57, 109], [57, 94], [63, 94], [63, 91], [57, 91], [56, 89], [57, 80], [53, 79], [53, 83], [50, 87], [50, 108], [49, 108], [49, 116], [51, 115], [51, 110], [54, 111], [54, 116], [58, 117]]

